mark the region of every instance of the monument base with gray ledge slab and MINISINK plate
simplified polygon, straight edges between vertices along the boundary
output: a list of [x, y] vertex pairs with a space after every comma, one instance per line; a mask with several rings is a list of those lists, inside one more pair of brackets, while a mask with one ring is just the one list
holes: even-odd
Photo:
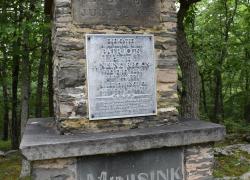
[[121, 132], [60, 135], [53, 118], [30, 119], [20, 145], [32, 178], [209, 179], [221, 125], [198, 120]]

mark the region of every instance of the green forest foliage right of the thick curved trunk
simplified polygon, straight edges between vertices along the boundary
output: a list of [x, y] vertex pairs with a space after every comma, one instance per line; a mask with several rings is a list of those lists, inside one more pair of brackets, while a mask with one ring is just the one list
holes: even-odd
[[236, 1], [203, 0], [190, 9], [185, 24], [203, 76], [201, 117], [214, 120], [217, 70], [222, 77], [221, 123], [229, 132], [249, 132], [246, 114], [250, 111], [250, 4], [238, 0], [236, 5]]

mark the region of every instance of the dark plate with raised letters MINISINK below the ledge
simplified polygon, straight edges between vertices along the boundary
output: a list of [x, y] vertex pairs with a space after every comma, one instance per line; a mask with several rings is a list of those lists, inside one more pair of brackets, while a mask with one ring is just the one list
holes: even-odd
[[81, 157], [79, 180], [183, 180], [183, 149]]

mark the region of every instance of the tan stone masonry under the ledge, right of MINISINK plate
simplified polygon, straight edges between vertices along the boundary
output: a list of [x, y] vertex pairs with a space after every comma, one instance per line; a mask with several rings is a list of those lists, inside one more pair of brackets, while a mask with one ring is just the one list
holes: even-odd
[[188, 146], [185, 149], [186, 180], [212, 180], [214, 153], [212, 145]]

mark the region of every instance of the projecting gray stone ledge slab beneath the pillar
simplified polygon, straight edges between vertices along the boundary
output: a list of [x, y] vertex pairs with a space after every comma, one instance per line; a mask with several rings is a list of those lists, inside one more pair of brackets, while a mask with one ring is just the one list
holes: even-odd
[[77, 157], [219, 141], [225, 128], [198, 120], [120, 132], [59, 135], [53, 118], [30, 119], [20, 149], [28, 160]]

